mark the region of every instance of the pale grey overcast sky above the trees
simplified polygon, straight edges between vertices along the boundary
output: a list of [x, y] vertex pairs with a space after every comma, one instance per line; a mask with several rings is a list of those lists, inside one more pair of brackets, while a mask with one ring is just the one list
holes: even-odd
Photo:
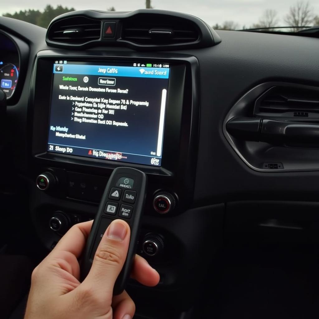
[[[275, 9], [280, 18], [280, 24], [284, 25], [283, 17], [289, 11], [289, 7], [297, 0], [152, 0], [155, 9], [180, 11], [193, 14], [210, 25], [222, 24], [225, 20], [234, 20], [240, 27], [249, 27], [256, 23], [266, 9]], [[114, 6], [116, 11], [131, 11], [145, 8], [145, 0], [88, 0], [79, 3], [78, 0], [1, 0], [0, 14], [25, 9], [42, 10], [46, 4], [56, 6], [74, 7], [76, 10], [97, 9], [107, 10]], [[314, 14], [319, 15], [319, 1], [310, 0]]]

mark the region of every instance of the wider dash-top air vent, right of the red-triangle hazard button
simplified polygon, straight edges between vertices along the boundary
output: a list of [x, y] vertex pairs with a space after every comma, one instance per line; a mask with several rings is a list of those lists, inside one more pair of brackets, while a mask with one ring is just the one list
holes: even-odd
[[123, 22], [122, 40], [139, 45], [190, 44], [200, 40], [200, 31], [187, 19], [138, 14]]

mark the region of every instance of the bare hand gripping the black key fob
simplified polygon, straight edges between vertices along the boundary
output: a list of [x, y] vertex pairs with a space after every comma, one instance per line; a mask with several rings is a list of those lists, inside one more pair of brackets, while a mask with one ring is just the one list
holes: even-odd
[[[91, 270], [79, 282], [78, 258], [84, 250], [92, 221], [73, 226], [34, 269], [25, 319], [131, 319], [135, 305], [124, 291], [113, 296], [115, 280], [124, 264], [130, 227], [113, 221], [96, 250]], [[136, 255], [131, 277], [156, 286], [159, 274]]]

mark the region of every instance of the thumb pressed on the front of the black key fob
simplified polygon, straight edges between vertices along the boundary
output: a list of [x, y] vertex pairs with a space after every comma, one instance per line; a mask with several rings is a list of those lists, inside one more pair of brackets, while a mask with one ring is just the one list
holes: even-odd
[[121, 219], [113, 220], [96, 249], [91, 270], [81, 288], [88, 288], [102, 299], [111, 301], [115, 280], [122, 270], [129, 243], [129, 225]]

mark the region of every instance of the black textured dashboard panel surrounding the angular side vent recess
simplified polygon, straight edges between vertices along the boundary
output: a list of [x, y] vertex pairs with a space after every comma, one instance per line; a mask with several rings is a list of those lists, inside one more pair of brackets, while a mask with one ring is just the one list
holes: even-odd
[[226, 141], [222, 122], [235, 102], [262, 82], [318, 85], [318, 39], [233, 31], [219, 31], [219, 35], [219, 45], [192, 52], [199, 61], [201, 79], [195, 202], [294, 199], [296, 195], [315, 199], [319, 172], [253, 171]]

